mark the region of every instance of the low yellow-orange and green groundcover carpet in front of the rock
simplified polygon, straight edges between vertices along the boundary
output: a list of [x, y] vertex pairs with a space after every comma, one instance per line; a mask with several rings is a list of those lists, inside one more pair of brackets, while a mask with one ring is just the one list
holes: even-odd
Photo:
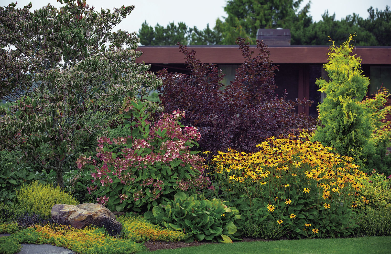
[[[181, 231], [153, 225], [141, 215], [129, 213], [118, 217], [122, 223], [122, 233], [109, 236], [104, 228], [94, 226], [74, 229], [68, 226], [54, 226], [53, 223], [18, 229], [18, 224], [0, 225], [0, 233], [11, 236], [0, 238], [0, 254], [12, 254], [20, 250], [20, 243], [52, 244], [74, 250], [80, 254], [130, 254], [145, 250], [144, 241], [176, 242], [186, 238]], [[7, 250], [8, 252], [5, 252]]]

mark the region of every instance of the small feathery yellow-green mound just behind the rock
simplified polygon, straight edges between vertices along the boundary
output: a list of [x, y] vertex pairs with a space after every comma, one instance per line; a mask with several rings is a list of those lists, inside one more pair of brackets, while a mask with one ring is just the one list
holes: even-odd
[[20, 188], [17, 197], [20, 205], [25, 206], [27, 210], [44, 216], [51, 215], [55, 204], [79, 204], [72, 195], [65, 193], [58, 185], [54, 188], [52, 184], [42, 185], [38, 181]]

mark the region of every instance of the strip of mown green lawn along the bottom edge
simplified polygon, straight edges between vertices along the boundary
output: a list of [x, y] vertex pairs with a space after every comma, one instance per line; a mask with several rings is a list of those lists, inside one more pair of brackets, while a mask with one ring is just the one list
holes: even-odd
[[[151, 252], [140, 252], [140, 254]], [[391, 236], [205, 244], [153, 254], [390, 254]]]

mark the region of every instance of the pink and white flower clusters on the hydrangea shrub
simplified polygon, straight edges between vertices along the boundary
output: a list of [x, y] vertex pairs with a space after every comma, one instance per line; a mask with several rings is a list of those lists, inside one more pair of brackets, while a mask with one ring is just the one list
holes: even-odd
[[[127, 107], [129, 108], [125, 111], [133, 108], [131, 105]], [[209, 179], [202, 177], [204, 158], [190, 154], [189, 143], [187, 143], [199, 140], [200, 134], [195, 127], [186, 126], [181, 128], [178, 121], [182, 117], [185, 117], [185, 114], [180, 111], [174, 111], [172, 114], [163, 114], [159, 121], [151, 125], [146, 139], [133, 138], [132, 142], [129, 142], [131, 145], [127, 143], [127, 139], [131, 137], [118, 137], [115, 139], [109, 139], [105, 136], [100, 137], [96, 149], [99, 163], [86, 156], [80, 156], [76, 161], [79, 169], [86, 166], [86, 164], [93, 163], [94, 165], [94, 167], [90, 166], [92, 182], [99, 181], [99, 183], [88, 187], [88, 192], [91, 193], [96, 190], [99, 187], [98, 185], [104, 187], [113, 183], [113, 179], [120, 179], [120, 184], [122, 185], [142, 186], [141, 190], [133, 192], [131, 195], [128, 194], [131, 201], [138, 201], [144, 197], [148, 197], [149, 201], [156, 200], [162, 195], [162, 190], [164, 189], [163, 181], [153, 178], [136, 181], [139, 175], [138, 171], [154, 167], [155, 163], [169, 165], [169, 162], [174, 160], [180, 161], [179, 165], [181, 167], [190, 167], [192, 171], [201, 174], [198, 178], [197, 176], [192, 176], [191, 179], [173, 180], [173, 183], [177, 181], [179, 189], [188, 190], [189, 188], [199, 188], [206, 185]], [[160, 132], [165, 132], [164, 141], [161, 141], [163, 137], [158, 135]], [[154, 144], [153, 146], [151, 145], [152, 143]], [[112, 151], [115, 151], [117, 155], [112, 156]], [[118, 154], [117, 151], [122, 153]], [[176, 169], [173, 168], [172, 170]], [[146, 195], [145, 192], [147, 190], [152, 195]], [[107, 192], [102, 194], [107, 194]], [[115, 198], [119, 199], [120, 203], [128, 199], [125, 194], [120, 194]], [[97, 201], [100, 204], [107, 204], [108, 199], [104, 195], [97, 198]]]

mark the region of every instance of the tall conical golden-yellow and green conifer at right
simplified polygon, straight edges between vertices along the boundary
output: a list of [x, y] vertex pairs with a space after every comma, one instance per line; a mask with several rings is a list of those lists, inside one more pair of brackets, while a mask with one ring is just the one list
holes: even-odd
[[362, 75], [361, 59], [352, 55], [352, 41], [353, 36], [349, 36], [340, 47], [332, 41], [328, 63], [324, 65], [330, 81], [323, 78], [316, 81], [326, 98], [318, 106], [323, 126], [318, 126], [313, 140], [334, 147], [341, 155], [364, 159], [374, 151], [374, 144], [369, 141], [373, 127], [365, 114], [365, 105], [360, 103], [369, 78]]

